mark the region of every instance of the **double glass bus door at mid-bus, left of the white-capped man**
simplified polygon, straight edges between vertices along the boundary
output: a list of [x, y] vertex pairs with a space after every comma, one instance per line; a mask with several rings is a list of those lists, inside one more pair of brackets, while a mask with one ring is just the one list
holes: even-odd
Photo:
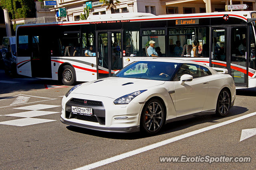
[[96, 31], [98, 78], [114, 75], [122, 68], [122, 31]]

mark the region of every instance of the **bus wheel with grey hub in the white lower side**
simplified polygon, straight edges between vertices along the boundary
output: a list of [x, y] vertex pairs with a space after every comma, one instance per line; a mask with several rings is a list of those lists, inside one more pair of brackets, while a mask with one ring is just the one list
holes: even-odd
[[61, 82], [64, 85], [71, 86], [72, 84], [74, 84], [75, 79], [76, 79], [76, 74], [75, 74], [74, 68], [70, 65], [63, 66]]

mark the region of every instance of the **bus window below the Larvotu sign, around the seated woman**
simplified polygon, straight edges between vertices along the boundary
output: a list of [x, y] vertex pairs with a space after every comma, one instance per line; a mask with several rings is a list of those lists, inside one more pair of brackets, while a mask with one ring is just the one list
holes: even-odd
[[206, 28], [171, 28], [168, 31], [168, 57], [191, 57], [194, 40], [198, 40], [199, 45], [193, 57], [209, 57]]

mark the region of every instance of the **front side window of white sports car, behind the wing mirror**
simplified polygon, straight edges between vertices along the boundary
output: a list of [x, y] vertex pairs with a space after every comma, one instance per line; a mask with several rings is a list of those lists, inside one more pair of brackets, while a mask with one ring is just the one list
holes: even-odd
[[200, 67], [196, 64], [182, 64], [180, 70], [176, 74], [175, 81], [180, 81], [180, 77], [184, 74], [189, 74], [193, 78], [201, 77]]

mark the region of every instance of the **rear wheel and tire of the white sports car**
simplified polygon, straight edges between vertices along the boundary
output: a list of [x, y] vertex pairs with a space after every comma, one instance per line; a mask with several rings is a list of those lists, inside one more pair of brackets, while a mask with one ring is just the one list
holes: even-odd
[[231, 107], [231, 95], [227, 89], [222, 89], [218, 96], [216, 114], [219, 116], [226, 116]]

